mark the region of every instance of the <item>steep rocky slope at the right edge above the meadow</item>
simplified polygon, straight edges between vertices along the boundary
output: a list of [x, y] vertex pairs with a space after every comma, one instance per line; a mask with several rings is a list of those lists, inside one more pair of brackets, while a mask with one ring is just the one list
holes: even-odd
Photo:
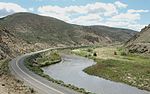
[[133, 36], [125, 45], [131, 53], [150, 54], [150, 25], [145, 26], [140, 33]]

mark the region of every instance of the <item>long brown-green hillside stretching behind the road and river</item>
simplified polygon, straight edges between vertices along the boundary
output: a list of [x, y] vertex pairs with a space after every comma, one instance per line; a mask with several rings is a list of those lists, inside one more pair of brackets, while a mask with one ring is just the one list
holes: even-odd
[[0, 19], [0, 58], [54, 46], [125, 42], [135, 35], [129, 29], [79, 26], [32, 13]]

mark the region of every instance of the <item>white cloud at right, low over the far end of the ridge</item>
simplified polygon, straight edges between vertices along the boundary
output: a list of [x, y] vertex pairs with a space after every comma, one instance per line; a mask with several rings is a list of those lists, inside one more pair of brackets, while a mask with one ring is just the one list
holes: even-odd
[[108, 18], [105, 24], [140, 31], [145, 24], [138, 24], [138, 21], [141, 19], [141, 13], [146, 12], [149, 12], [149, 10], [128, 9], [126, 13], [120, 13]]

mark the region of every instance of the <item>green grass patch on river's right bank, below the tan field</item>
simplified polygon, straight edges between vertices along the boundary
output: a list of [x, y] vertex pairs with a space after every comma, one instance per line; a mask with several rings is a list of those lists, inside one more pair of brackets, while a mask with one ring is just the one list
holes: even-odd
[[95, 61], [96, 65], [84, 69], [86, 73], [150, 91], [150, 61], [144, 63], [113, 59], [95, 59]]

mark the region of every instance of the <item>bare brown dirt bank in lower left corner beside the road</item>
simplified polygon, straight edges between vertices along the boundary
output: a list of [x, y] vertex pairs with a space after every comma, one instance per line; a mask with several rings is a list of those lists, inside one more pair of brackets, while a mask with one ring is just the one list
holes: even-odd
[[9, 59], [0, 61], [0, 94], [36, 94], [34, 89], [10, 74], [8, 62]]

